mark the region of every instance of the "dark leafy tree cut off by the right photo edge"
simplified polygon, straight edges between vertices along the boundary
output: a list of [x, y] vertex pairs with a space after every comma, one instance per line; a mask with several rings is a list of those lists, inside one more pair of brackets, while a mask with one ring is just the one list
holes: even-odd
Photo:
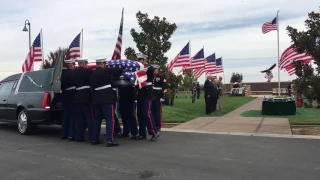
[[320, 14], [311, 12], [308, 13], [308, 19], [305, 21], [306, 31], [298, 31], [297, 29], [288, 26], [288, 35], [292, 40], [292, 47], [299, 53], [307, 52], [314, 58], [311, 64], [294, 62], [297, 78], [293, 81], [295, 90], [302, 93], [309, 103], [316, 100], [320, 103], [320, 46], [316, 43], [320, 37]]

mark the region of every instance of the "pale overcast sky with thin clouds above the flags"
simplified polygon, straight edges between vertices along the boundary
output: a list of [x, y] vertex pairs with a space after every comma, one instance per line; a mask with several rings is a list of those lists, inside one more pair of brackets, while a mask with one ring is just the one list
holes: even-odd
[[[318, 6], [319, 0], [0, 0], [0, 79], [21, 72], [28, 53], [28, 33], [22, 32], [26, 19], [32, 42], [42, 28], [44, 57], [59, 46], [68, 47], [83, 28], [83, 57], [93, 61], [112, 56], [124, 7], [123, 58], [126, 47], [135, 47], [129, 31], [138, 28], [135, 14], [141, 10], [177, 24], [169, 59], [190, 40], [192, 56], [204, 47], [205, 56], [215, 52], [223, 57], [226, 82], [232, 72], [242, 73], [244, 82], [266, 81], [259, 71], [277, 62], [277, 32], [262, 34], [262, 24], [280, 10], [281, 55], [291, 43], [286, 26], [303, 30], [307, 13], [318, 12]], [[273, 74], [277, 81], [277, 68]], [[280, 76], [281, 81], [294, 78], [284, 71]]]

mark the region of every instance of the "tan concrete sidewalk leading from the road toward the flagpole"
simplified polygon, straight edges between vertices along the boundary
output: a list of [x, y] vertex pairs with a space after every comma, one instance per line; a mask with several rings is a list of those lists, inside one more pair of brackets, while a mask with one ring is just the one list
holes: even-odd
[[292, 135], [287, 118], [248, 118], [240, 116], [245, 111], [260, 110], [262, 99], [262, 97], [257, 98], [222, 117], [199, 117], [172, 129]]

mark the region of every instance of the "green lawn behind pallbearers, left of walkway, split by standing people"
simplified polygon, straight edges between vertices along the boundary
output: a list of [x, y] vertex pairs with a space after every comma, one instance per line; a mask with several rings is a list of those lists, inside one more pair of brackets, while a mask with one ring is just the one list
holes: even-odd
[[[178, 98], [175, 98], [174, 106], [163, 106], [162, 119], [164, 123], [183, 123], [197, 117], [206, 116], [203, 94], [201, 94], [200, 99], [196, 99], [195, 104], [192, 104], [191, 98], [186, 98], [186, 96], [186, 94], [178, 94]], [[253, 99], [255, 97], [230, 97], [226, 95], [223, 108], [213, 113], [212, 116], [223, 116]]]

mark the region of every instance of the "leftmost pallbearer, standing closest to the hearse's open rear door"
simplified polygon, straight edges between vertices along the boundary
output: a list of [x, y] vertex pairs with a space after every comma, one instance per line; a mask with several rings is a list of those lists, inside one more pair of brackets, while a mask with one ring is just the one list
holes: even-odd
[[74, 72], [75, 62], [74, 60], [64, 61], [67, 69], [62, 71], [61, 76], [61, 90], [62, 90], [62, 101], [63, 101], [63, 120], [61, 129], [61, 139], [74, 140], [75, 139], [75, 108], [73, 105], [73, 96], [76, 91], [76, 87], [72, 82], [72, 74]]

